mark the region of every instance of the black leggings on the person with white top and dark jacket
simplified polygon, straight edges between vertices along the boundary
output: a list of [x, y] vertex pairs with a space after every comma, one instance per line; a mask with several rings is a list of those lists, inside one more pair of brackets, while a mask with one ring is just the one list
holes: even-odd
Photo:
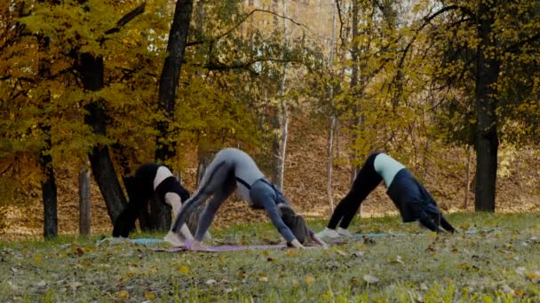
[[377, 185], [383, 181], [383, 178], [375, 171], [373, 164], [379, 153], [374, 152], [366, 159], [360, 172], [356, 175], [356, 179], [354, 179], [353, 187], [345, 198], [339, 202], [330, 217], [327, 225], [329, 229], [336, 229], [338, 224], [342, 229], [348, 228], [351, 221], [353, 221], [354, 214], [360, 208], [361, 202], [368, 197], [369, 192], [375, 190]]

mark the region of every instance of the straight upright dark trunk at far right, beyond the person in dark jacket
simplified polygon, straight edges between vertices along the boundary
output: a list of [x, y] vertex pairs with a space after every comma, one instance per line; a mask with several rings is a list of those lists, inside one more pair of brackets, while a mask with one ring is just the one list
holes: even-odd
[[[480, 1], [478, 11], [480, 43], [477, 49], [476, 71], [476, 190], [475, 211], [495, 212], [497, 169], [496, 87], [499, 61], [496, 42], [492, 36], [494, 23], [492, 7]], [[495, 51], [495, 53], [494, 53]]]

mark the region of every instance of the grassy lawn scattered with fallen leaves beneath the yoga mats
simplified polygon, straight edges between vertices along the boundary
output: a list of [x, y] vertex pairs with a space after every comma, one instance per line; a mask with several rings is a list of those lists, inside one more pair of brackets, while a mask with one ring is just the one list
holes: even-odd
[[[373, 218], [351, 230], [407, 235], [329, 250], [235, 253], [97, 246], [99, 236], [0, 243], [0, 301], [540, 301], [540, 214], [451, 214], [449, 221], [496, 230], [438, 237], [397, 217]], [[309, 222], [315, 230], [325, 224]], [[268, 224], [212, 233], [237, 244], [279, 239]]]

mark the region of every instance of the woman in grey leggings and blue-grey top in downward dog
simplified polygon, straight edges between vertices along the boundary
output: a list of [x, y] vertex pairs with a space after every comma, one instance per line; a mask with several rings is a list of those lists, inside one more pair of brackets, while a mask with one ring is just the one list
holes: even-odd
[[[269, 183], [258, 169], [255, 161], [244, 151], [227, 148], [219, 151], [203, 176], [203, 181], [195, 194], [189, 198], [180, 211], [171, 231], [177, 233], [184, 225], [187, 214], [195, 206], [210, 198], [203, 213], [200, 214], [199, 224], [195, 232], [195, 241], [187, 242], [188, 248], [206, 250], [201, 244], [204, 233], [210, 228], [219, 206], [225, 202], [238, 187], [242, 198], [253, 208], [265, 209], [274, 226], [287, 243], [294, 247], [303, 247], [308, 241], [325, 245], [314, 232], [306, 227], [306, 221], [292, 210], [280, 190]], [[171, 243], [175, 245], [174, 243]]]

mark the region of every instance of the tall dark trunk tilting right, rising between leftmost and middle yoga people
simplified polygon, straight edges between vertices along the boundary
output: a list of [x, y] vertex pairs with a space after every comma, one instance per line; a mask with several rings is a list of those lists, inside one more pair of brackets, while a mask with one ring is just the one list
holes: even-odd
[[[187, 33], [193, 0], [178, 0], [174, 10], [174, 17], [167, 43], [168, 56], [163, 63], [163, 71], [159, 81], [158, 108], [163, 113], [163, 120], [158, 122], [156, 136], [155, 159], [166, 163], [174, 158], [176, 152], [176, 134], [171, 132], [171, 120], [174, 119], [176, 92], [179, 86], [182, 60], [186, 51]], [[150, 218], [155, 229], [169, 229], [171, 227], [171, 208], [152, 199], [150, 202]]]

